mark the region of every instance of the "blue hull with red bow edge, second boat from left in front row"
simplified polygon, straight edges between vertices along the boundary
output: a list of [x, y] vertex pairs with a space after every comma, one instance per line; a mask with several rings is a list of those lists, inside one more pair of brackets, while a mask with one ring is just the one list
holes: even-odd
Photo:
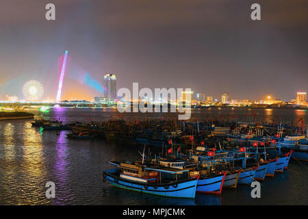
[[209, 194], [221, 194], [222, 185], [224, 184], [224, 177], [226, 177], [227, 172], [216, 177], [210, 177], [205, 179], [198, 179], [198, 184], [196, 192], [209, 193]]

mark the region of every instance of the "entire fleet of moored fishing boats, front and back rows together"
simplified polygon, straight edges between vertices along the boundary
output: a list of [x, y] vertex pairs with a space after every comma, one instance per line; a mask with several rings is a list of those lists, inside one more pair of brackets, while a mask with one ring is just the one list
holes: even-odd
[[[290, 158], [308, 160], [308, 133], [303, 121], [295, 125], [253, 122], [122, 118], [62, 125], [42, 117], [32, 122], [43, 129], [70, 129], [68, 138], [125, 140], [160, 147], [161, 153], [145, 155], [134, 162], [111, 161], [103, 181], [118, 188], [179, 198], [194, 198], [196, 192], [221, 194], [274, 177], [287, 169]], [[144, 150], [145, 151], [145, 150]]]

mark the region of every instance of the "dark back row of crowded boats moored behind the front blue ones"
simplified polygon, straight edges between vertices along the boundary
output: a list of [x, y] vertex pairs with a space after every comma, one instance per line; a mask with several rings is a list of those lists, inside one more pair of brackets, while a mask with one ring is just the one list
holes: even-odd
[[[193, 144], [206, 142], [214, 147], [222, 144], [224, 147], [253, 146], [261, 142], [271, 142], [279, 153], [293, 150], [295, 159], [308, 160], [308, 132], [304, 130], [303, 120], [294, 125], [261, 124], [261, 122], [239, 121], [183, 121], [146, 119], [134, 122], [120, 119], [91, 121], [90, 123], [74, 122], [62, 124], [60, 118], [49, 120], [37, 116], [34, 127], [44, 130], [72, 130], [66, 133], [68, 138], [106, 140], [123, 140], [129, 144], [146, 146], [168, 146], [172, 140], [174, 146], [188, 149]], [[260, 145], [261, 146], [261, 145]]]

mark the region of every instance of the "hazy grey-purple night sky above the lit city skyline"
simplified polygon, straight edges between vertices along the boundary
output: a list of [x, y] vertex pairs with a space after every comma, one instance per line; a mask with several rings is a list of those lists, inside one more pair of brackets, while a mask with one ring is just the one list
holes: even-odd
[[[47, 3], [55, 4], [55, 21], [45, 19]], [[251, 20], [252, 3], [261, 5], [261, 21]], [[118, 88], [139, 82], [214, 99], [227, 92], [284, 101], [308, 92], [307, 0], [1, 0], [0, 26], [0, 83], [16, 84], [0, 90], [1, 99], [21, 93], [14, 83], [21, 75], [40, 75], [45, 97], [55, 98], [65, 50], [99, 82], [116, 73]], [[64, 79], [62, 99], [100, 95], [74, 74]]]

